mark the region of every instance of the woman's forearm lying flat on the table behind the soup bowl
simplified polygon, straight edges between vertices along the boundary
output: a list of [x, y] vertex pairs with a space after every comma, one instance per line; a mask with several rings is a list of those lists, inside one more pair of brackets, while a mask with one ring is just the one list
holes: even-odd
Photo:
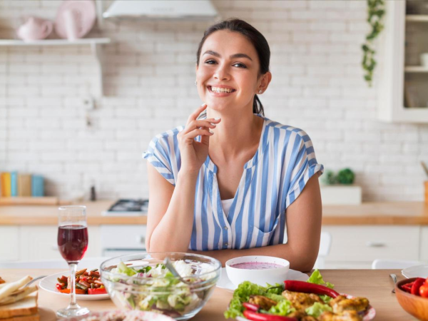
[[249, 248], [245, 250], [212, 250], [212, 251], [188, 251], [188, 253], [196, 253], [201, 255], [208, 255], [216, 258], [221, 262], [224, 267], [226, 261], [232, 258], [247, 255], [267, 255], [276, 258], [283, 258], [290, 262], [290, 269], [308, 272], [317, 260], [317, 253], [295, 253], [288, 244], [278, 244], [264, 246], [262, 248]]

